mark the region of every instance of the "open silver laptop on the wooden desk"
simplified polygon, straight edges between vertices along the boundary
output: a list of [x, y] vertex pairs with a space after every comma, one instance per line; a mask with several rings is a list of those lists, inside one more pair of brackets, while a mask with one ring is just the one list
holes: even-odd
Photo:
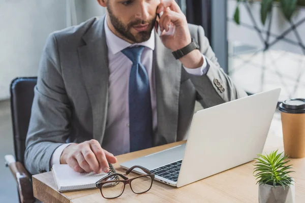
[[250, 162], [263, 151], [280, 92], [274, 89], [198, 111], [186, 144], [120, 166], [141, 165], [155, 180], [181, 187]]

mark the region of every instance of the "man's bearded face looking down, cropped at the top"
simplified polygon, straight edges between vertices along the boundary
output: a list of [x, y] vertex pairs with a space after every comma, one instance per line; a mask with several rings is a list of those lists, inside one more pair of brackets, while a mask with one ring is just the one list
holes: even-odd
[[121, 37], [141, 43], [150, 38], [159, 3], [160, 0], [108, 0], [107, 11]]

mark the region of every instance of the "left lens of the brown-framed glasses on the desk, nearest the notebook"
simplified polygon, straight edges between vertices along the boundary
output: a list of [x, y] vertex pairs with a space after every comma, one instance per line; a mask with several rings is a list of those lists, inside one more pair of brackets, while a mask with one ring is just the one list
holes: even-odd
[[105, 198], [115, 198], [123, 193], [124, 183], [119, 176], [113, 176], [103, 184], [101, 192]]

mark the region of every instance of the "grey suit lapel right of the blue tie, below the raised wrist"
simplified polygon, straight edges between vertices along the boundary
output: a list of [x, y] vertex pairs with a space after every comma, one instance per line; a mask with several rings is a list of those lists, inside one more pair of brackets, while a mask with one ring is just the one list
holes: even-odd
[[181, 63], [155, 34], [154, 70], [158, 115], [155, 144], [162, 145], [175, 142], [177, 137]]

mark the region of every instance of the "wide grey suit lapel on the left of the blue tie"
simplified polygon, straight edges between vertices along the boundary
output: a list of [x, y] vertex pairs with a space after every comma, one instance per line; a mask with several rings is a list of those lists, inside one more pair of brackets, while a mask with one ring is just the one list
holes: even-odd
[[93, 22], [83, 36], [78, 54], [85, 87], [92, 106], [93, 138], [102, 143], [107, 119], [109, 62], [104, 18]]

